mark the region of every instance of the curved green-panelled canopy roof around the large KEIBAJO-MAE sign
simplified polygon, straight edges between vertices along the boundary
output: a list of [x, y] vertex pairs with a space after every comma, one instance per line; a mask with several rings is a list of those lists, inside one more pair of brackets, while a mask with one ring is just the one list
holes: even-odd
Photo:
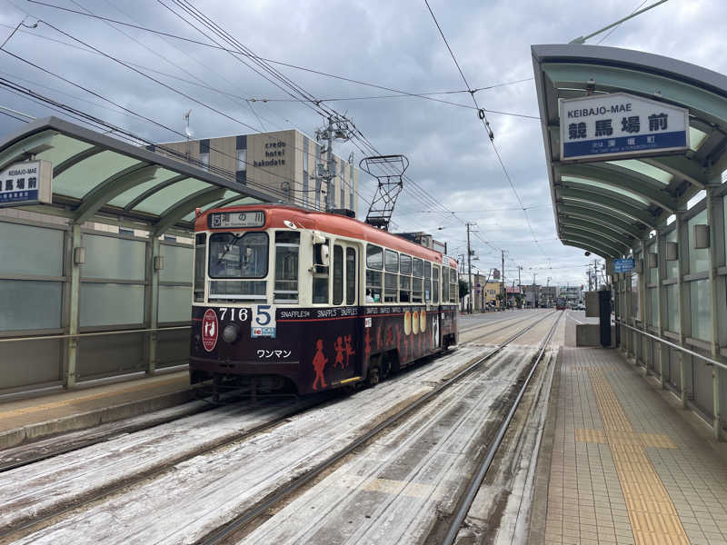
[[[686, 210], [707, 184], [720, 183], [726, 166], [727, 77], [613, 47], [533, 45], [532, 54], [553, 213], [564, 244], [621, 257], [630, 252], [634, 239], [648, 238], [672, 213]], [[676, 152], [644, 149], [632, 155], [563, 159], [561, 124], [571, 138], [567, 129], [573, 130], [574, 120], [561, 119], [559, 101], [614, 93], [648, 99], [643, 102], [657, 108], [685, 108], [688, 144]], [[623, 126], [631, 129], [626, 122]]]

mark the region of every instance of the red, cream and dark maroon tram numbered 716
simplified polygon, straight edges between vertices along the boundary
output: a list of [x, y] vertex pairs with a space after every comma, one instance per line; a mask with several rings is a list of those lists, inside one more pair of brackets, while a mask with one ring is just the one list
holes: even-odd
[[299, 394], [457, 342], [457, 264], [334, 213], [245, 205], [194, 226], [191, 381]]

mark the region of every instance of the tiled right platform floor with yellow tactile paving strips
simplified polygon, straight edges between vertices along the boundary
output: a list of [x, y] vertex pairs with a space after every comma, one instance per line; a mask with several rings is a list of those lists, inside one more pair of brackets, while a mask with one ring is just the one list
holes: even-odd
[[706, 423], [613, 350], [563, 347], [558, 379], [533, 542], [727, 544], [727, 458]]

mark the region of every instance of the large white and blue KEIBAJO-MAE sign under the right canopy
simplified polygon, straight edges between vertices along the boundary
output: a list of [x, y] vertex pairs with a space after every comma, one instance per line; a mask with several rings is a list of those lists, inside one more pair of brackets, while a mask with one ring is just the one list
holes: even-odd
[[561, 100], [561, 161], [685, 151], [689, 111], [627, 93]]

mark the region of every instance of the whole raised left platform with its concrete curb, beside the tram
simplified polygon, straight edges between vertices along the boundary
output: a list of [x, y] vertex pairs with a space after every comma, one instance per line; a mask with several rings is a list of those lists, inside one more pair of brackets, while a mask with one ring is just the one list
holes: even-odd
[[0, 401], [0, 449], [172, 407], [193, 393], [184, 370]]

